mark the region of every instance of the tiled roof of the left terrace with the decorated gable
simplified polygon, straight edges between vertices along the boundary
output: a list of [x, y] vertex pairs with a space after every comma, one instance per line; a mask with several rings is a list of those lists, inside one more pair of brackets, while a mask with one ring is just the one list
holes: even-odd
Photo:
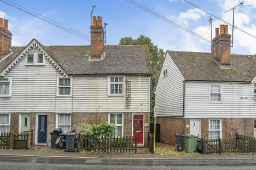
[[[89, 61], [90, 46], [42, 46], [67, 74], [151, 74], [147, 45], [108, 45], [102, 61]], [[13, 55], [0, 62], [0, 72], [25, 47], [12, 47]]]

